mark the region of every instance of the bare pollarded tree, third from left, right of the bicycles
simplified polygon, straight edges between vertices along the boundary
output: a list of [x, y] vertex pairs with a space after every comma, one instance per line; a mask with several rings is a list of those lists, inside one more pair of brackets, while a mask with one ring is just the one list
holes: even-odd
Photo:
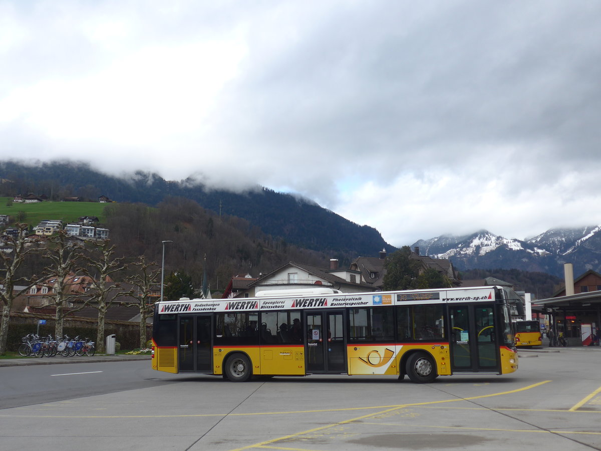
[[100, 354], [103, 354], [106, 352], [104, 343], [106, 311], [115, 298], [122, 294], [118, 290], [120, 284], [115, 284], [111, 275], [123, 270], [126, 265], [122, 263], [123, 258], [115, 257], [115, 246], [111, 245], [110, 240], [95, 242], [93, 248], [95, 252], [85, 257], [87, 265], [83, 271], [97, 280], [95, 289], [90, 290], [90, 305], [98, 310], [96, 348]]

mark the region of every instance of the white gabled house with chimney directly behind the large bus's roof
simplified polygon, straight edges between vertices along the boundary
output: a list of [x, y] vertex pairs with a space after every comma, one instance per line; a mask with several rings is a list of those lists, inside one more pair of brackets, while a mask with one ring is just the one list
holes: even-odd
[[[332, 260], [337, 262], [337, 260]], [[288, 262], [240, 290], [236, 297], [254, 297], [258, 292], [280, 290], [307, 290], [327, 287], [343, 293], [364, 293], [374, 291], [374, 287], [361, 280], [361, 273], [352, 269], [340, 269], [332, 263], [331, 268]]]

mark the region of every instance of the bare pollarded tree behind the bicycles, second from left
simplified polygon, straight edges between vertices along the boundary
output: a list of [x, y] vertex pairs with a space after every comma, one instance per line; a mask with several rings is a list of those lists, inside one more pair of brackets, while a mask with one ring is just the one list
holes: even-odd
[[[52, 287], [47, 298], [51, 300], [48, 305], [56, 307], [54, 333], [57, 337], [63, 336], [63, 324], [67, 314], [81, 310], [87, 305], [87, 295], [73, 290], [75, 286], [81, 285], [74, 270], [83, 256], [84, 248], [70, 242], [65, 230], [59, 230], [47, 240], [44, 257], [50, 260], [50, 265], [44, 269], [44, 275], [46, 283]], [[70, 305], [74, 300], [82, 302], [75, 306]], [[66, 307], [70, 307], [69, 310], [66, 310]]]

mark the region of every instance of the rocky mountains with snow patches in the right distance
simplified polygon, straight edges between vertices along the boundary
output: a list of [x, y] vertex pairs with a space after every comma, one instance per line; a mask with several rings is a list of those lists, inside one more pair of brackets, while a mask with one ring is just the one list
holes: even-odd
[[472, 235], [444, 235], [419, 240], [419, 253], [450, 259], [457, 269], [522, 269], [563, 277], [563, 264], [573, 263], [575, 275], [601, 272], [601, 225], [551, 229], [521, 241], [487, 230]]

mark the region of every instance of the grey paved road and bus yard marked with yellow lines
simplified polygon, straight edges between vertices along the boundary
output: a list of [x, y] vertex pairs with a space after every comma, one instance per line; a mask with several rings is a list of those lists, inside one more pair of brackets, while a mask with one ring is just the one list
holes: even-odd
[[[601, 449], [601, 349], [520, 352], [505, 376], [233, 383], [150, 361], [0, 368], [0, 447]], [[46, 387], [44, 389], [44, 387]]]

